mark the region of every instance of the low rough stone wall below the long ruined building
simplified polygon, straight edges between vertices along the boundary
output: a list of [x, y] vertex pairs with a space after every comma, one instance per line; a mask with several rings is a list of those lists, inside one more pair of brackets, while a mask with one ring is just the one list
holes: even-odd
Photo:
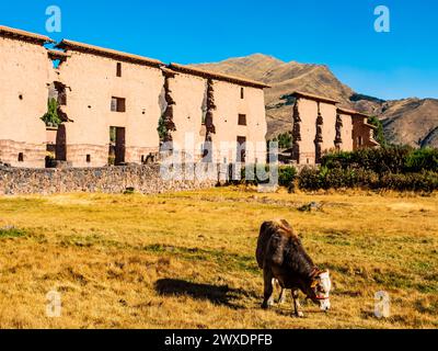
[[[185, 170], [183, 169], [183, 172]], [[165, 180], [159, 165], [26, 169], [0, 167], [0, 195], [56, 194], [71, 192], [123, 193], [132, 188], [145, 194], [212, 188], [217, 179]]]

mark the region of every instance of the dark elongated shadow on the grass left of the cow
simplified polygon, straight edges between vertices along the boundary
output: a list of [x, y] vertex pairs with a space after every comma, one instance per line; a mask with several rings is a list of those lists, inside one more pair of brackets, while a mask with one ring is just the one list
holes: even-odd
[[198, 284], [178, 279], [161, 279], [155, 282], [155, 290], [163, 296], [189, 296], [234, 309], [245, 308], [235, 301], [253, 297], [241, 288], [231, 288], [228, 285]]

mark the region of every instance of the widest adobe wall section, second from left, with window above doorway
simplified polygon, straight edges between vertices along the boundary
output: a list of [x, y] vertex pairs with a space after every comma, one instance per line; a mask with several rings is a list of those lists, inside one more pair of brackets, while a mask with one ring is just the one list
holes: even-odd
[[[126, 128], [126, 162], [140, 163], [142, 156], [157, 152], [164, 82], [161, 70], [122, 61], [122, 77], [117, 77], [115, 59], [68, 54], [71, 57], [59, 68], [59, 80], [67, 86], [62, 110], [73, 121], [66, 124], [67, 160], [73, 167], [105, 166], [111, 126]], [[113, 97], [126, 99], [126, 112], [111, 111]]]

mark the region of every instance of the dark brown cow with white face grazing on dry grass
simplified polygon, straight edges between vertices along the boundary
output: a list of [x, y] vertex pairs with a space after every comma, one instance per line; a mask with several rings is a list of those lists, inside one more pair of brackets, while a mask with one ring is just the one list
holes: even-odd
[[280, 299], [285, 297], [285, 290], [292, 291], [295, 315], [302, 317], [299, 312], [298, 293], [301, 291], [322, 310], [330, 309], [328, 293], [332, 287], [328, 271], [321, 271], [313, 264], [306, 252], [300, 238], [285, 220], [265, 222], [262, 225], [256, 259], [263, 269], [264, 301], [262, 308], [268, 308], [273, 295], [273, 282], [278, 281], [281, 286]]

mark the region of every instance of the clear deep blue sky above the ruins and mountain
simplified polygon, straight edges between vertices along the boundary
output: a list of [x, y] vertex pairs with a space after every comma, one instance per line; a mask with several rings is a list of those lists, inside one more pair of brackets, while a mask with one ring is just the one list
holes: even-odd
[[[383, 99], [438, 98], [437, 0], [21, 0], [1, 1], [0, 24], [163, 61], [218, 61], [254, 53], [325, 64], [354, 90]], [[391, 11], [377, 33], [373, 10]]]

